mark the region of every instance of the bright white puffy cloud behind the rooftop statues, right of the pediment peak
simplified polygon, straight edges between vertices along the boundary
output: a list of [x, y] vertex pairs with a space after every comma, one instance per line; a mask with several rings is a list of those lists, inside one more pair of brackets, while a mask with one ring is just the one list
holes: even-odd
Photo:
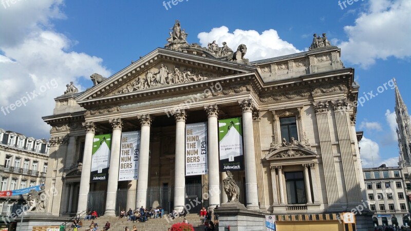
[[215, 40], [219, 46], [222, 46], [222, 42], [227, 42], [227, 45], [236, 51], [240, 44], [245, 44], [247, 46], [245, 58], [250, 61], [302, 52], [282, 40], [274, 29], [263, 31], [261, 34], [255, 30], [241, 29], [231, 33], [228, 27], [221, 26], [213, 28], [210, 32], [201, 32], [197, 37], [203, 47], [207, 47], [208, 43]]

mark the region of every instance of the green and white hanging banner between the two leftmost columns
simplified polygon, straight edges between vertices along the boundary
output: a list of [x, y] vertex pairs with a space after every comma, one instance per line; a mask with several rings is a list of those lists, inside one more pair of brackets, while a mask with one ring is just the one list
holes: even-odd
[[111, 134], [94, 136], [90, 182], [108, 180], [108, 166], [110, 164]]

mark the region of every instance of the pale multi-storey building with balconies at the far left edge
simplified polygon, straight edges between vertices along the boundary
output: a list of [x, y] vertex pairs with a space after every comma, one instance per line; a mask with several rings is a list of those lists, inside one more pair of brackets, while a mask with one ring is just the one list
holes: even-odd
[[[0, 191], [44, 183], [49, 143], [0, 128]], [[27, 195], [0, 198], [0, 214], [9, 215]]]

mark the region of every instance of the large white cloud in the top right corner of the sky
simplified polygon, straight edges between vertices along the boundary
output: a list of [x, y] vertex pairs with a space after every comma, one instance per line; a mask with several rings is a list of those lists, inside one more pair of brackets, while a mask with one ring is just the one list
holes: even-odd
[[405, 59], [411, 54], [411, 1], [369, 1], [353, 26], [345, 26], [348, 41], [338, 46], [344, 60], [363, 68], [390, 56]]

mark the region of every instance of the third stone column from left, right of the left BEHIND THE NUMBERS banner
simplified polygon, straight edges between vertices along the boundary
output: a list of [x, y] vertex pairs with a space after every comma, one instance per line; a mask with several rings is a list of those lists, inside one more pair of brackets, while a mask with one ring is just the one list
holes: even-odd
[[149, 114], [143, 114], [140, 115], [138, 119], [140, 120], [141, 124], [141, 134], [136, 206], [146, 207], [148, 187], [148, 162], [150, 160], [150, 126], [152, 118]]

